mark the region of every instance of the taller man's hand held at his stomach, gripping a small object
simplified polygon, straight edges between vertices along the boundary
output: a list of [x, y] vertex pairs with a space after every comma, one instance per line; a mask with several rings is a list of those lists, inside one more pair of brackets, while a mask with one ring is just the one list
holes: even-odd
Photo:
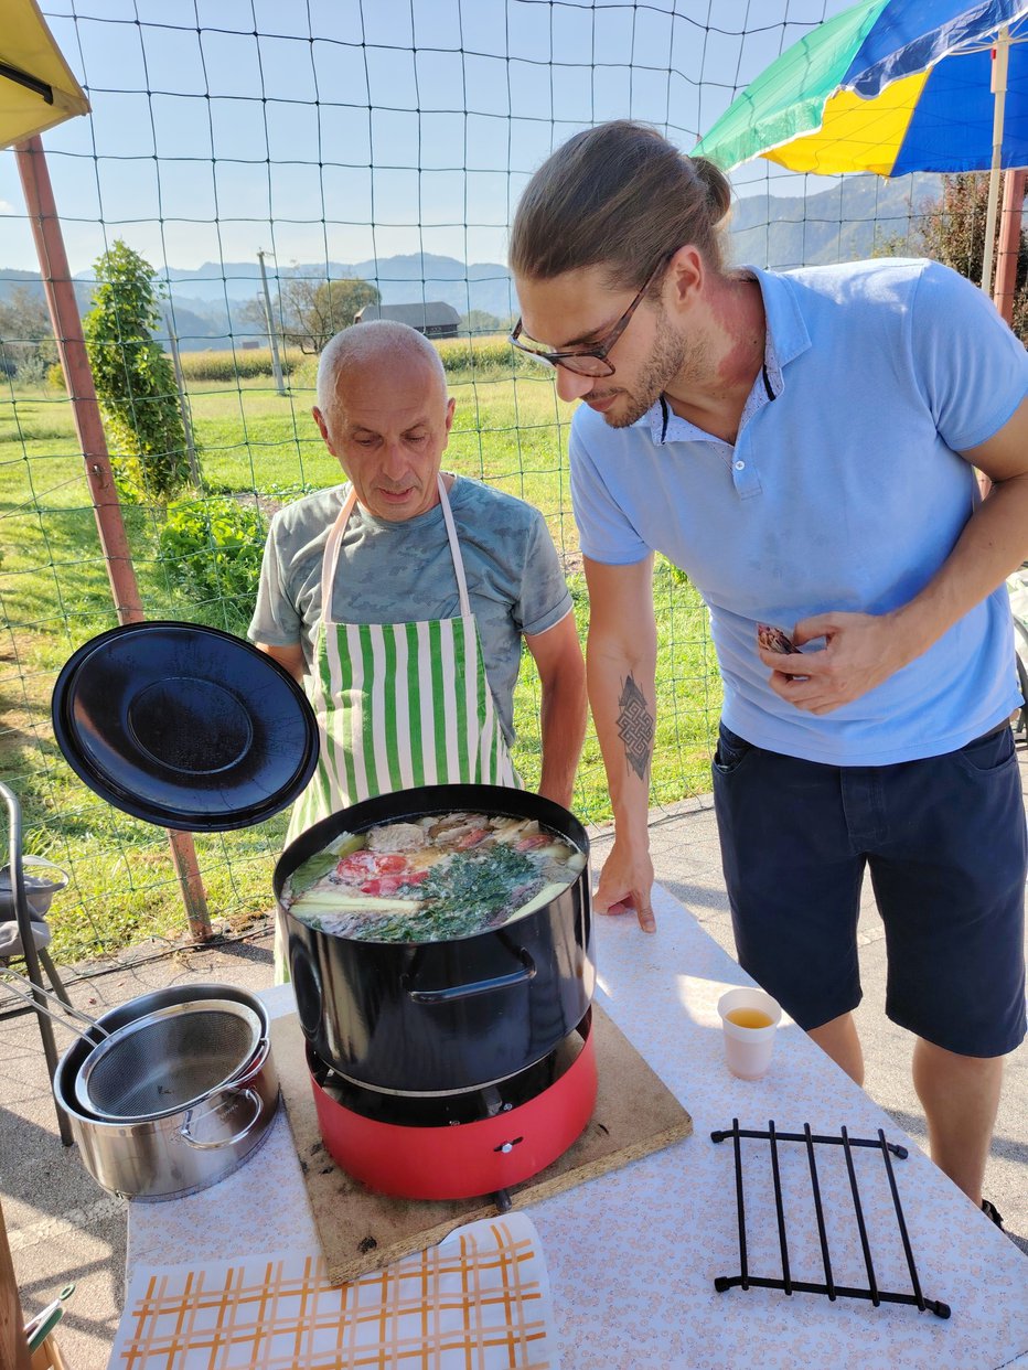
[[873, 690], [924, 651], [903, 633], [895, 614], [816, 614], [796, 623], [796, 647], [824, 637], [817, 652], [781, 656], [758, 645], [772, 669], [770, 688], [810, 714], [831, 714]]

